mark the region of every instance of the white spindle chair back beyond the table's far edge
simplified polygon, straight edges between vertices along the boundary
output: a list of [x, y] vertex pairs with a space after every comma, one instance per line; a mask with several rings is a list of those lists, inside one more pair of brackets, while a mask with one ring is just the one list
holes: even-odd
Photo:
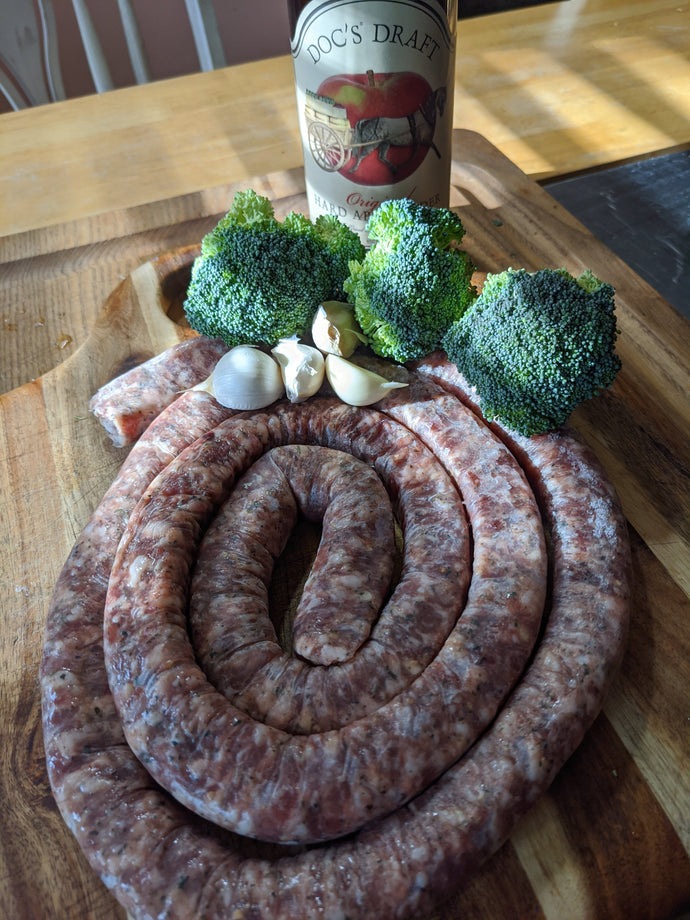
[[[187, 16], [201, 70], [225, 66], [213, 0], [185, 0]], [[137, 83], [151, 79], [131, 0], [117, 0], [132, 70]], [[89, 70], [96, 92], [113, 89], [86, 0], [72, 0]], [[1, 0], [0, 91], [13, 109], [65, 98], [58, 60], [58, 29], [52, 0]]]

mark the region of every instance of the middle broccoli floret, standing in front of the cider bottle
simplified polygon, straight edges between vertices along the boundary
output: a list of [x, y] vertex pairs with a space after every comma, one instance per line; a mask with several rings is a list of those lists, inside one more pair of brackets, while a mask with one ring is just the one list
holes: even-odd
[[474, 265], [458, 248], [465, 229], [453, 211], [407, 198], [384, 201], [366, 229], [372, 248], [344, 282], [357, 321], [376, 354], [424, 357], [477, 294]]

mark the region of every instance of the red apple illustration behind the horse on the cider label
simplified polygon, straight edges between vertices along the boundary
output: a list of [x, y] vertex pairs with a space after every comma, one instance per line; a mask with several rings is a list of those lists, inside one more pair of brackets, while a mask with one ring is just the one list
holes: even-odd
[[359, 185], [389, 185], [406, 179], [430, 148], [445, 89], [434, 93], [419, 74], [338, 74], [318, 95], [342, 106], [352, 131], [347, 159], [338, 172]]

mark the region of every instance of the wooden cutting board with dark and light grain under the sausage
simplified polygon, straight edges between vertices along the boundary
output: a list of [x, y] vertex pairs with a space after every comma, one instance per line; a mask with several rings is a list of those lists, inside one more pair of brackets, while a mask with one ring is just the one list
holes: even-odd
[[[635, 584], [628, 651], [603, 713], [511, 840], [434, 917], [678, 917], [690, 910], [690, 329], [487, 141], [458, 131], [455, 144], [452, 204], [480, 271], [591, 268], [617, 290], [623, 370], [573, 421], [619, 490]], [[249, 184], [280, 214], [304, 209], [301, 171]], [[0, 241], [0, 917], [8, 920], [125, 916], [50, 793], [42, 633], [60, 567], [126, 455], [90, 417], [89, 398], [188, 334], [178, 322], [186, 273], [235, 190]]]

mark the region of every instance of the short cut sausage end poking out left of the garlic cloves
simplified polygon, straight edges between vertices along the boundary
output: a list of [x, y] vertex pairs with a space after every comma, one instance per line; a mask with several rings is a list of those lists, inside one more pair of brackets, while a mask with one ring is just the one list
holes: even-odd
[[227, 350], [221, 339], [187, 339], [106, 383], [89, 409], [115, 447], [126, 447], [181, 393], [206, 380]]

